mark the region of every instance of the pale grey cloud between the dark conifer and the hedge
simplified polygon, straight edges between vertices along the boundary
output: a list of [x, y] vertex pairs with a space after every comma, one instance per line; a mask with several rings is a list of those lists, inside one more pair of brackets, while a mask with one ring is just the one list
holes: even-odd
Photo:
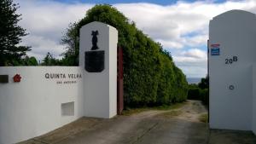
[[20, 26], [26, 29], [28, 36], [22, 39], [23, 45], [32, 46], [28, 55], [44, 59], [47, 52], [61, 58], [65, 46], [61, 45], [63, 32], [70, 23], [82, 19], [86, 10], [93, 5], [84, 3], [57, 3], [52, 1], [16, 0], [20, 3], [18, 13], [22, 14]]

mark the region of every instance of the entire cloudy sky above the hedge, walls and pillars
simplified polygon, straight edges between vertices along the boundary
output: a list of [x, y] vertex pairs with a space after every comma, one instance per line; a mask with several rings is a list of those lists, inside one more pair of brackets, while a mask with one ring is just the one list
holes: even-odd
[[81, 20], [98, 3], [113, 5], [134, 21], [148, 37], [170, 51], [175, 64], [187, 78], [207, 75], [209, 21], [231, 9], [256, 13], [256, 0], [15, 0], [22, 14], [19, 25], [29, 33], [23, 45], [32, 46], [27, 55], [43, 60], [47, 52], [61, 58], [61, 37], [70, 23]]

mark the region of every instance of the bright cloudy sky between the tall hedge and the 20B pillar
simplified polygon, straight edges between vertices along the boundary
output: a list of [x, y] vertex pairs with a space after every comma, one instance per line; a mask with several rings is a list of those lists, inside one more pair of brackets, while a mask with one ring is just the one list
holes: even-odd
[[[116, 6], [134, 20], [144, 33], [171, 51], [173, 60], [187, 77], [205, 77], [207, 74], [209, 20], [231, 9], [256, 12], [254, 0], [224, 3], [178, 1], [167, 6], [130, 3]], [[201, 49], [193, 49], [196, 47]]]

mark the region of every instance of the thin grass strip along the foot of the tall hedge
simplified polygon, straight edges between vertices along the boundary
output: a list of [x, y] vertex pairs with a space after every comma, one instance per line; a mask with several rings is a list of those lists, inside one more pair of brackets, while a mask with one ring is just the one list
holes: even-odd
[[140, 107], [140, 108], [127, 108], [122, 112], [122, 115], [125, 116], [130, 116], [131, 114], [139, 113], [139, 112], [145, 112], [149, 110], [160, 110], [160, 111], [167, 111], [167, 110], [174, 110], [180, 107], [183, 107], [186, 102], [181, 102], [181, 103], [175, 103], [172, 105], [163, 105], [159, 107]]

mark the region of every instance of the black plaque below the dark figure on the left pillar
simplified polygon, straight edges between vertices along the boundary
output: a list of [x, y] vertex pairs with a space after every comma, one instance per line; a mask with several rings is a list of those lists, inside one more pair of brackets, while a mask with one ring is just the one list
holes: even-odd
[[105, 68], [105, 52], [86, 51], [84, 68], [87, 72], [102, 72]]

